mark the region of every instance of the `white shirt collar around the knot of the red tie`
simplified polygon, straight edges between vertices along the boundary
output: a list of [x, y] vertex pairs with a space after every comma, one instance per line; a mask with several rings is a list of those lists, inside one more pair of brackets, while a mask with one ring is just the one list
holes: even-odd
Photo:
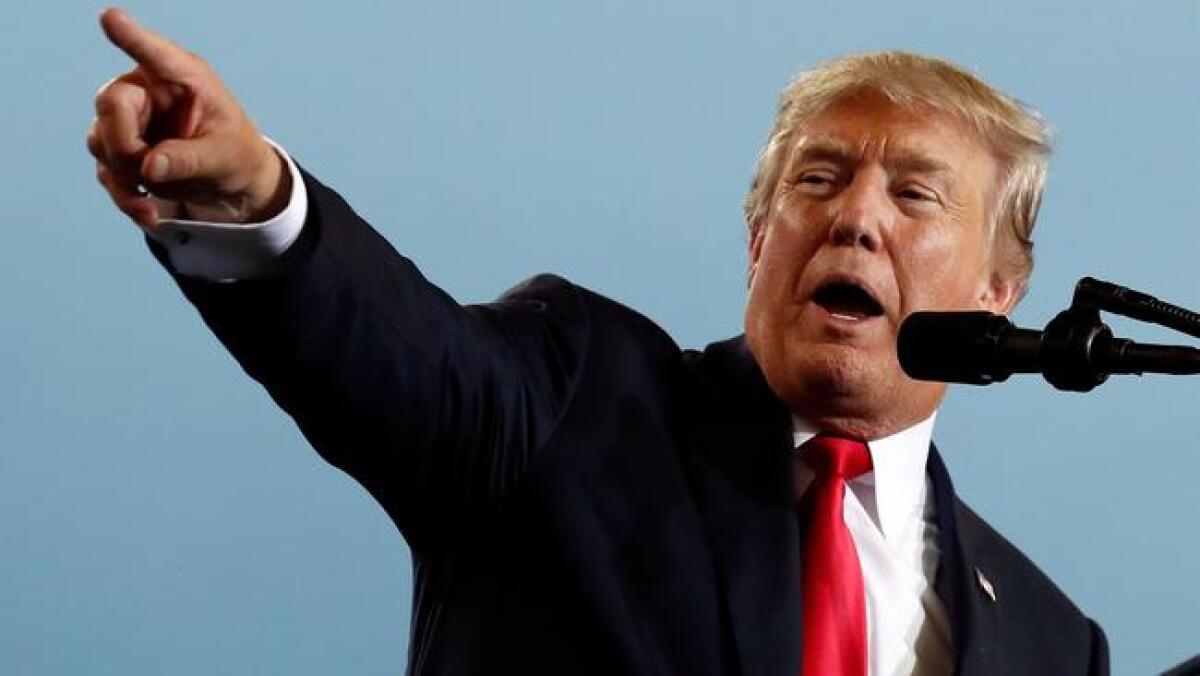
[[[935, 411], [929, 418], [906, 430], [866, 442], [872, 469], [851, 481], [856, 489], [866, 489], [856, 492], [865, 493], [868, 498], [874, 497], [874, 504], [869, 504], [868, 510], [875, 512], [872, 516], [876, 518], [876, 525], [888, 540], [900, 537], [913, 515], [919, 518], [924, 510], [925, 462], [929, 460], [936, 418]], [[799, 448], [821, 430], [793, 414], [792, 432], [796, 448]], [[806, 484], [805, 480], [804, 485]]]

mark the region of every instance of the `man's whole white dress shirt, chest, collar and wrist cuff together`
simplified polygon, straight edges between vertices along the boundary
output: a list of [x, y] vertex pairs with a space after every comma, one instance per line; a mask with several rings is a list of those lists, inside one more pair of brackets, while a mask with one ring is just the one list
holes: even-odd
[[[268, 139], [269, 140], [269, 139]], [[270, 142], [270, 140], [269, 140]], [[271, 142], [288, 166], [292, 196], [262, 223], [209, 223], [163, 219], [146, 233], [162, 244], [175, 270], [215, 282], [262, 277], [300, 235], [308, 197], [292, 157]], [[817, 430], [794, 420], [796, 445]], [[866, 591], [870, 676], [941, 676], [954, 669], [946, 609], [934, 591], [940, 558], [932, 491], [925, 460], [934, 417], [890, 437], [868, 442], [874, 469], [850, 481], [845, 519]], [[800, 493], [812, 472], [799, 462]]]

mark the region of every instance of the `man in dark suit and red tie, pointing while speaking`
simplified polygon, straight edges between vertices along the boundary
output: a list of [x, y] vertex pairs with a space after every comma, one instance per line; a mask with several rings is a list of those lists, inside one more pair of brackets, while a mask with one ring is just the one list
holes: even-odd
[[910, 312], [1024, 292], [1048, 149], [1007, 96], [900, 53], [797, 78], [746, 202], [745, 337], [692, 352], [552, 276], [460, 306], [203, 61], [102, 25], [138, 67], [97, 95], [100, 180], [404, 534], [412, 672], [1106, 672], [954, 496], [944, 385], [895, 359]]

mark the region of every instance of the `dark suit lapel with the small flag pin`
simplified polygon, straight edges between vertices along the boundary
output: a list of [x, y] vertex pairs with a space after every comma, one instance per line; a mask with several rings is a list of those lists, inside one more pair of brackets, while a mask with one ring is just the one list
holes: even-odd
[[986, 558], [974, 546], [968, 528], [964, 528], [965, 507], [954, 493], [946, 465], [932, 445], [926, 472], [934, 486], [942, 552], [934, 586], [946, 605], [954, 634], [954, 671], [962, 676], [1010, 674], [1004, 666], [1004, 652], [998, 650], [1003, 590], [992, 584]]

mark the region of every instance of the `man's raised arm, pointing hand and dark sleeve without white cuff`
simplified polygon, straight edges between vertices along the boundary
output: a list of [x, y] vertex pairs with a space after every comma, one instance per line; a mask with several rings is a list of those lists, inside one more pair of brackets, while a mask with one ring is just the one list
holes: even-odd
[[[208, 66], [119, 12], [102, 23], [139, 64], [101, 90], [89, 134], [118, 207], [148, 229], [164, 209], [229, 221], [278, 209], [290, 189], [278, 156]], [[452, 545], [496, 513], [569, 406], [588, 295], [540, 277], [461, 306], [334, 191], [301, 180], [305, 222], [271, 275], [208, 281], [148, 244], [244, 370], [410, 544]]]

